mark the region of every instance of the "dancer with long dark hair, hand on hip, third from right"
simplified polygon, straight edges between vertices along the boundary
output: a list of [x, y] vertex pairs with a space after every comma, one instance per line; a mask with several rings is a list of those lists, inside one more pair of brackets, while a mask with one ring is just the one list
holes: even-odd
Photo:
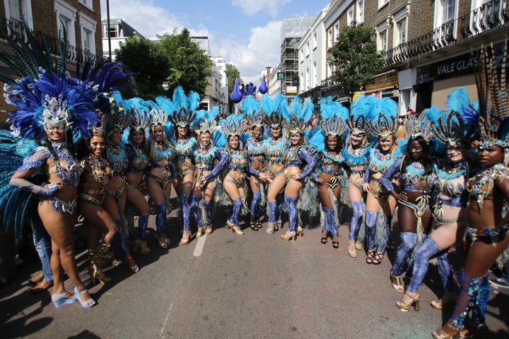
[[[398, 221], [401, 243], [391, 271], [392, 287], [404, 292], [405, 263], [411, 251], [426, 238], [431, 221], [428, 177], [433, 172], [429, 141], [433, 136], [431, 121], [421, 114], [410, 117], [405, 124], [410, 137], [406, 153], [399, 155], [394, 164], [382, 174], [382, 185], [398, 203]], [[398, 193], [392, 179], [399, 174], [402, 192]]]

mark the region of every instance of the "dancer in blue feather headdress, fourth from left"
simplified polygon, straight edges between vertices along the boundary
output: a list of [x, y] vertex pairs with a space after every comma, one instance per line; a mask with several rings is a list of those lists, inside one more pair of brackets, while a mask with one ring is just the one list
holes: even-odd
[[[148, 215], [150, 215], [150, 206], [142, 190], [145, 187], [145, 174], [148, 169], [148, 143], [145, 138], [145, 130], [150, 124], [151, 116], [149, 107], [143, 105], [139, 97], [126, 100], [127, 114], [131, 115], [131, 124], [129, 125], [129, 138], [125, 144], [127, 154], [126, 171], [126, 190], [127, 201], [138, 210], [138, 239], [134, 243], [134, 252], [139, 254], [149, 254], [146, 241], [146, 230], [148, 227]], [[149, 106], [151, 102], [148, 102]], [[129, 234], [131, 239], [136, 239]]]

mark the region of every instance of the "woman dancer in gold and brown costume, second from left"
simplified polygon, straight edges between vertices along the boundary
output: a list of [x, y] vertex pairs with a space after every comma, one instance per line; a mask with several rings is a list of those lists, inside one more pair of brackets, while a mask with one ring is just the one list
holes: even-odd
[[[88, 273], [92, 283], [99, 281], [105, 284], [111, 279], [103, 273], [103, 266], [108, 258], [110, 244], [117, 234], [117, 224], [103, 208], [106, 189], [112, 177], [112, 168], [103, 157], [106, 150], [105, 124], [102, 122], [90, 131], [92, 136], [87, 141], [90, 154], [79, 164], [83, 174], [79, 184], [78, 213], [84, 218], [88, 231], [88, 256], [90, 257]], [[107, 229], [104, 235], [103, 228]]]

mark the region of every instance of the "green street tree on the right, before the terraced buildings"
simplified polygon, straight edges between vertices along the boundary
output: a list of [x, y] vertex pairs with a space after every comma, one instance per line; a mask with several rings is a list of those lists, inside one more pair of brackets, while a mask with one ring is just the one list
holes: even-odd
[[331, 48], [332, 65], [336, 69], [333, 80], [339, 83], [350, 101], [355, 92], [371, 83], [375, 74], [382, 71], [384, 59], [377, 52], [372, 35], [373, 28], [353, 22], [341, 29]]

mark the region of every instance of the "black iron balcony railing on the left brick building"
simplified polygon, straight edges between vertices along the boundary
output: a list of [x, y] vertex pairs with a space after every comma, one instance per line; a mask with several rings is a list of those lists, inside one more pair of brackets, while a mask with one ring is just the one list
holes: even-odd
[[[39, 46], [47, 44], [49, 51], [53, 55], [60, 54], [60, 40], [54, 35], [46, 35], [37, 30], [32, 31], [35, 41]], [[44, 39], [43, 39], [44, 37]], [[28, 44], [28, 39], [25, 34], [25, 24], [19, 20], [6, 19], [0, 17], [0, 39], [14, 40], [22, 44]], [[44, 40], [44, 42], [43, 42]], [[102, 58], [98, 58], [95, 54], [92, 54], [88, 49], [81, 49], [72, 44], [67, 43], [67, 55], [66, 59], [71, 62], [80, 62], [81, 64], [88, 61], [92, 61], [95, 65], [98, 61], [102, 61]]]

